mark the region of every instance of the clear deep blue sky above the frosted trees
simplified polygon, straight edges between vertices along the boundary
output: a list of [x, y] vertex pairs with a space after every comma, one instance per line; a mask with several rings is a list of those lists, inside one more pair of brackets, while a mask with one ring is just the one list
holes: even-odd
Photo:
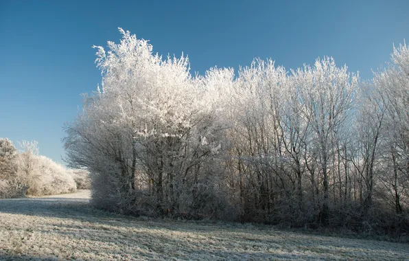
[[101, 81], [95, 49], [117, 27], [182, 52], [191, 71], [272, 58], [287, 69], [333, 56], [362, 79], [409, 41], [409, 1], [19, 1], [0, 0], [0, 137], [38, 141], [62, 162], [62, 126], [80, 93]]

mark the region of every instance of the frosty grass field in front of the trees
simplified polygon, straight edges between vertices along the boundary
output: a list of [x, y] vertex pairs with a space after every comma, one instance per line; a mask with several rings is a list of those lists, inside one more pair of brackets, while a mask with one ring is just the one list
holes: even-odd
[[409, 260], [409, 246], [269, 226], [148, 220], [89, 206], [89, 192], [0, 200], [0, 260]]

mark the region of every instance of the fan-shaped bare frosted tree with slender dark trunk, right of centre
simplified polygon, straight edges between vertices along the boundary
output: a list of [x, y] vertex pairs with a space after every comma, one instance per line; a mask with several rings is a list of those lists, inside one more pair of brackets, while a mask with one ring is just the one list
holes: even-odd
[[328, 223], [331, 177], [331, 159], [336, 154], [336, 141], [348, 123], [353, 109], [353, 96], [358, 77], [347, 72], [347, 67], [337, 67], [334, 59], [316, 60], [314, 67], [305, 66], [294, 72], [301, 87], [303, 114], [314, 133], [312, 146], [318, 155], [318, 173], [322, 182], [322, 209], [320, 218]]

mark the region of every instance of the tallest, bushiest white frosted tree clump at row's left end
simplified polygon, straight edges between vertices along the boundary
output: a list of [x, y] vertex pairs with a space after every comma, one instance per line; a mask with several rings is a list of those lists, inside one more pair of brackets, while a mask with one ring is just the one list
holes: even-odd
[[163, 59], [119, 30], [121, 43], [108, 42], [108, 52], [96, 47], [102, 89], [66, 128], [67, 160], [89, 169], [102, 207], [161, 214], [209, 205], [196, 194], [218, 185], [217, 175], [201, 180], [203, 171], [217, 173], [210, 161], [222, 146], [211, 95], [191, 78], [186, 57]]

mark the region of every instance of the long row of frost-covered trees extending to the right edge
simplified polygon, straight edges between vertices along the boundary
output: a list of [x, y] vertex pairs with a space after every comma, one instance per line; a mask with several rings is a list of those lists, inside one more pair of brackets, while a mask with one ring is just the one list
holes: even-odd
[[191, 76], [187, 57], [119, 31], [119, 44], [95, 47], [102, 87], [66, 126], [67, 160], [89, 170], [95, 205], [357, 229], [393, 227], [377, 218], [408, 208], [406, 45], [366, 84], [329, 57]]

